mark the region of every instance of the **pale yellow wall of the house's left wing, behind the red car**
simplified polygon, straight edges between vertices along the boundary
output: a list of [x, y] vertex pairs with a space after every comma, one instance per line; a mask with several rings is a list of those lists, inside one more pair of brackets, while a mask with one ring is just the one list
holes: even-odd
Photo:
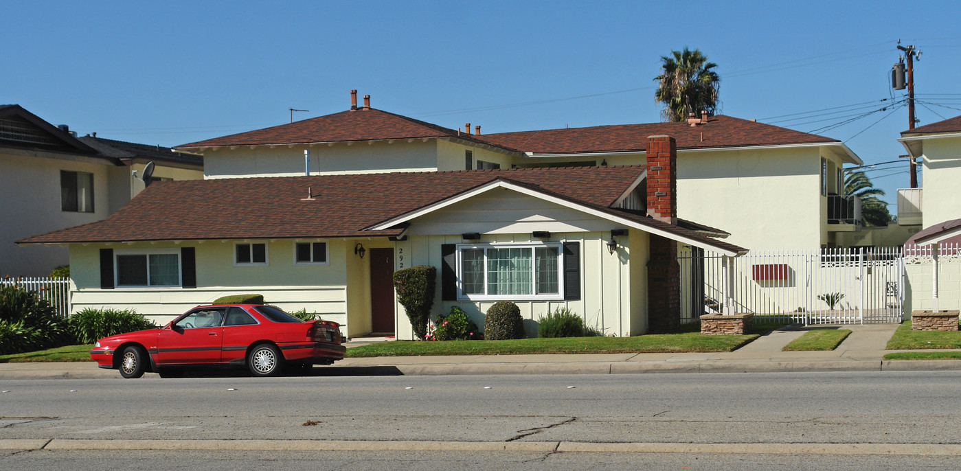
[[[301, 240], [309, 242], [312, 240]], [[347, 318], [347, 247], [344, 240], [327, 240], [328, 265], [295, 265], [293, 240], [255, 240], [267, 243], [267, 266], [234, 266], [234, 241], [197, 241], [134, 244], [74, 244], [70, 247], [73, 311], [111, 307], [135, 309], [160, 324], [186, 310], [231, 294], [263, 294], [267, 303], [283, 310], [307, 309], [349, 329]], [[194, 247], [197, 287], [100, 287], [100, 249], [157, 250]], [[351, 246], [353, 248], [353, 245]], [[353, 257], [353, 254], [351, 254]]]

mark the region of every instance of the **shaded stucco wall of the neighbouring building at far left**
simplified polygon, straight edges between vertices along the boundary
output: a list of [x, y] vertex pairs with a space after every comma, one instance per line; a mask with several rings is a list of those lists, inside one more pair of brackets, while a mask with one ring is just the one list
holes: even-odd
[[[17, 246], [14, 240], [98, 221], [110, 213], [111, 165], [0, 154], [0, 276], [46, 276], [66, 264], [65, 247]], [[93, 174], [93, 212], [61, 210], [61, 170]]]

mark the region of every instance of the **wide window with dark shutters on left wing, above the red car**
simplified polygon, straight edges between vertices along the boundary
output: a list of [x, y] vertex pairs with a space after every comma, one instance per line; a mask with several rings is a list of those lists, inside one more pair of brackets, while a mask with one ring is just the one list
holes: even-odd
[[181, 285], [180, 251], [117, 252], [114, 254], [117, 287]]

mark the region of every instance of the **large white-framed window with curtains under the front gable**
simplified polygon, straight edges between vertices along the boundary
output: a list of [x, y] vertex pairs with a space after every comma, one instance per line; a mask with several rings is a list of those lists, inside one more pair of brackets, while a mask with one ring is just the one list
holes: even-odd
[[561, 248], [547, 244], [457, 247], [461, 299], [561, 299]]

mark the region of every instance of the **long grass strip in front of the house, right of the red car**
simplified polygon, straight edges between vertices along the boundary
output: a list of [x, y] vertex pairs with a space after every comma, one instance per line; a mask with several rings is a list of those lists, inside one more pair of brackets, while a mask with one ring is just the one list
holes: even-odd
[[347, 349], [347, 357], [427, 357], [438, 355], [530, 355], [730, 352], [759, 335], [680, 334], [628, 337], [521, 338], [517, 340], [395, 340]]

